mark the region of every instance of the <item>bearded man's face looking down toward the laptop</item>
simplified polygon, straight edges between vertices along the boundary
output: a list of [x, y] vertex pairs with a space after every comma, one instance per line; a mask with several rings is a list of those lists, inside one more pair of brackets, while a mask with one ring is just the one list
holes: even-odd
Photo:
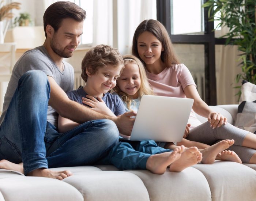
[[54, 32], [50, 41], [53, 52], [63, 58], [69, 58], [81, 41], [83, 22], [66, 18], [61, 22], [60, 28]]

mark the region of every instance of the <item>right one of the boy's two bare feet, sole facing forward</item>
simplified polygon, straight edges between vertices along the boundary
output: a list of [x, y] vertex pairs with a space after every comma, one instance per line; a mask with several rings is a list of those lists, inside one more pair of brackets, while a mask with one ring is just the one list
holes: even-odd
[[170, 172], [181, 172], [187, 167], [195, 165], [202, 160], [202, 153], [197, 147], [190, 147], [186, 149], [180, 156], [180, 158], [174, 161], [170, 165]]

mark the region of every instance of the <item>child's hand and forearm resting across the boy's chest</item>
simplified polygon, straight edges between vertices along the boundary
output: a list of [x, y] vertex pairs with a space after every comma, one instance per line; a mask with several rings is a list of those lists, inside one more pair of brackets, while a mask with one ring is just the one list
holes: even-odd
[[94, 98], [93, 96], [86, 95], [87, 98], [82, 97], [82, 102], [88, 106], [90, 106], [90, 109], [97, 111], [101, 114], [106, 114], [108, 116], [116, 117], [112, 113], [112, 111], [106, 106], [105, 102], [102, 100], [102, 98]]

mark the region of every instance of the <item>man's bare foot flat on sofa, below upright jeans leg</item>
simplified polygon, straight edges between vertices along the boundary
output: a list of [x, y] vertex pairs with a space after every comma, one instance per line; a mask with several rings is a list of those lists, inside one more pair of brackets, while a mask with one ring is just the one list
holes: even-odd
[[59, 179], [59, 180], [65, 179], [71, 175], [72, 173], [69, 170], [52, 171], [46, 168], [39, 168], [27, 174], [27, 176], [31, 176], [31, 177], [48, 177], [48, 178]]

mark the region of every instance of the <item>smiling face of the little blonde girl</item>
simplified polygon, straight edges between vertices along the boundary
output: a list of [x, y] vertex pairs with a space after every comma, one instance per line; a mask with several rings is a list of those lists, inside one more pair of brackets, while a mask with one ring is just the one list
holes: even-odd
[[125, 65], [121, 76], [117, 79], [117, 86], [125, 94], [128, 94], [132, 99], [139, 97], [140, 89], [140, 71], [137, 64], [128, 63]]

